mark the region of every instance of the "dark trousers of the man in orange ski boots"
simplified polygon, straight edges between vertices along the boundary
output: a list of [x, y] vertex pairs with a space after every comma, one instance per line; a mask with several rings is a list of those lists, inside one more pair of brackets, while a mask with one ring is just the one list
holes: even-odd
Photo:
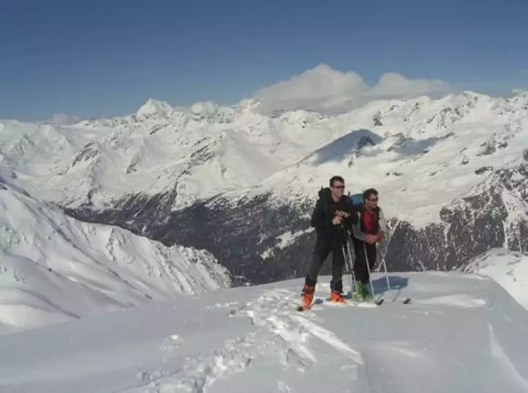
[[338, 239], [317, 238], [305, 283], [306, 285], [315, 285], [317, 283], [319, 271], [330, 252], [332, 253], [332, 281], [330, 282], [330, 288], [335, 292], [341, 293], [343, 291], [344, 256], [342, 243]]

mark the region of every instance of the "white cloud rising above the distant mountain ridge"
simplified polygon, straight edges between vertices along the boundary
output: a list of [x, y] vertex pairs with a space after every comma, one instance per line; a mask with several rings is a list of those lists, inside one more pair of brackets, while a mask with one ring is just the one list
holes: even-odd
[[367, 85], [355, 72], [334, 70], [326, 64], [261, 88], [255, 98], [263, 110], [317, 110], [338, 114], [377, 99], [409, 99], [422, 95], [440, 97], [451, 92], [449, 83], [440, 80], [407, 79], [400, 74], [383, 74], [376, 85]]

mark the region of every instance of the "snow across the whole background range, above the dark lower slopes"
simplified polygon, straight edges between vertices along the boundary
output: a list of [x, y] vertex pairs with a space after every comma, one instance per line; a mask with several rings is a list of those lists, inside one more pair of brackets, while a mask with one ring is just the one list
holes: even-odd
[[[516, 165], [528, 145], [522, 93], [371, 101], [335, 116], [302, 109], [266, 115], [261, 104], [173, 108], [149, 99], [127, 117], [69, 125], [0, 121], [1, 171], [70, 208], [175, 191], [174, 210], [222, 192], [238, 198], [271, 191], [289, 199], [295, 190], [315, 198], [338, 173], [353, 193], [378, 188], [387, 214], [419, 228], [482, 185], [489, 174], [476, 171]], [[361, 132], [377, 144], [358, 151]]]

